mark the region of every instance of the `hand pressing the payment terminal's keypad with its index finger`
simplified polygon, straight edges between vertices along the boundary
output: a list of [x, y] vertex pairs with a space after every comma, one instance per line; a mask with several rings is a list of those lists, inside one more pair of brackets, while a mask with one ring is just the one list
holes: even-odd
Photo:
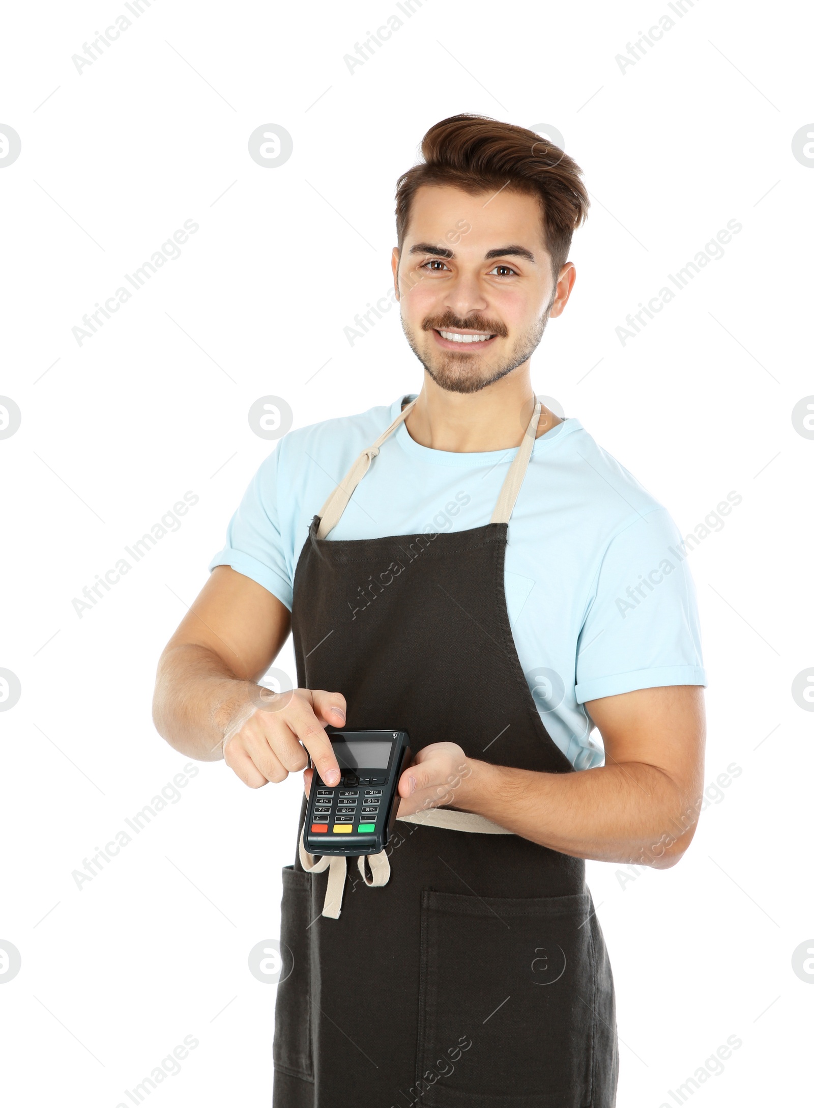
[[250, 789], [259, 789], [305, 769], [310, 755], [326, 784], [338, 784], [339, 763], [324, 728], [343, 727], [346, 707], [341, 693], [322, 689], [295, 689], [268, 700], [258, 694], [227, 728], [224, 761]]

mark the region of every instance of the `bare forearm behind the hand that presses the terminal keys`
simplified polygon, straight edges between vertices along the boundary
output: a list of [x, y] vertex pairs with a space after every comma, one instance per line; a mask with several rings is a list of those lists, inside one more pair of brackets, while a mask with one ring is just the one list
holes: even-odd
[[250, 714], [257, 690], [205, 646], [168, 647], [158, 663], [153, 721], [181, 753], [216, 761], [223, 758], [224, 735]]

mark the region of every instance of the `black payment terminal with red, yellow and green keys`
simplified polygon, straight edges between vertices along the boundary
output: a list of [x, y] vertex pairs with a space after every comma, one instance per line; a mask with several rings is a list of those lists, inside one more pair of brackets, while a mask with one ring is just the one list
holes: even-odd
[[303, 845], [309, 854], [378, 854], [399, 812], [399, 778], [410, 760], [410, 736], [331, 727], [326, 735], [342, 776], [339, 784], [330, 786], [315, 769]]

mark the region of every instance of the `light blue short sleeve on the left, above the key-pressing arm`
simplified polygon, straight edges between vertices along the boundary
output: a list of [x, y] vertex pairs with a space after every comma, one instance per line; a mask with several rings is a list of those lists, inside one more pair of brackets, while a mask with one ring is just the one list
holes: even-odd
[[293, 582], [278, 512], [280, 447], [262, 462], [226, 529], [226, 545], [209, 563], [229, 565], [272, 593], [291, 609]]

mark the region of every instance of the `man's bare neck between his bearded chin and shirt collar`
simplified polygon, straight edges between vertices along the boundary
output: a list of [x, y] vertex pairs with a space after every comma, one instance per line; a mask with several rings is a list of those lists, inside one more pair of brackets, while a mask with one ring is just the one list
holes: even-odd
[[[410, 438], [431, 450], [476, 453], [519, 445], [534, 412], [528, 363], [478, 392], [447, 392], [424, 372], [415, 407], [404, 421]], [[563, 421], [543, 406], [536, 438]]]

